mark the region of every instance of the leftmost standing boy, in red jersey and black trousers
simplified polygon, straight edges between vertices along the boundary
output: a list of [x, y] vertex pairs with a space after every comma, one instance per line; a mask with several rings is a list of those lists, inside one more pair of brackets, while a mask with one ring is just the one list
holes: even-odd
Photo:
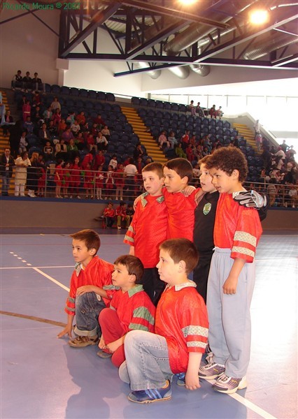
[[164, 177], [161, 163], [149, 163], [142, 170], [143, 193], [136, 203], [136, 212], [127, 230], [124, 242], [129, 254], [141, 259], [145, 270], [142, 284], [152, 302], [157, 304], [164, 290], [157, 272], [159, 244], [166, 240], [167, 210], [162, 195]]

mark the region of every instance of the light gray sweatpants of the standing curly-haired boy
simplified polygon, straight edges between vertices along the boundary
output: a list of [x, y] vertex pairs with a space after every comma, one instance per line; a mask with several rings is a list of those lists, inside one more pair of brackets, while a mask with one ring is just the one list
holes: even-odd
[[214, 362], [225, 365], [225, 374], [242, 378], [250, 360], [250, 302], [255, 286], [255, 262], [243, 266], [236, 294], [227, 295], [222, 286], [234, 263], [230, 255], [231, 249], [215, 247], [211, 260], [207, 288], [208, 341]]

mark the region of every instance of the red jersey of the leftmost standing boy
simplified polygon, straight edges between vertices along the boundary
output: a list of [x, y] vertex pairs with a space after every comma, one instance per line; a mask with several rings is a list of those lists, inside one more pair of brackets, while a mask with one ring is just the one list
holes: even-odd
[[134, 256], [146, 268], [155, 267], [159, 261], [159, 244], [166, 240], [167, 217], [164, 196], [143, 193], [124, 242], [134, 246]]

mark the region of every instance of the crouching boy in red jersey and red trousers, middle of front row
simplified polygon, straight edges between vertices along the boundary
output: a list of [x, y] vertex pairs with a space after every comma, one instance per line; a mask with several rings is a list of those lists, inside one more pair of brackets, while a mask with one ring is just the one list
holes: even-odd
[[136, 256], [119, 256], [114, 263], [113, 285], [100, 291], [101, 297], [111, 298], [111, 303], [99, 314], [102, 334], [97, 355], [112, 357], [115, 367], [125, 361], [124, 341], [129, 330], [154, 331], [155, 307], [139, 285], [143, 269]]

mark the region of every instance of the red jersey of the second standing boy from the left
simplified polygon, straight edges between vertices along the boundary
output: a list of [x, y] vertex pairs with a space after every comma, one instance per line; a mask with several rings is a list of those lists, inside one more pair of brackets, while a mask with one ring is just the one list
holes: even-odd
[[164, 201], [168, 209], [168, 239], [176, 239], [184, 237], [192, 241], [194, 230], [194, 210], [197, 204], [194, 201], [194, 196], [197, 190], [184, 196], [183, 193], [170, 193], [166, 188], [162, 188], [164, 194]]

